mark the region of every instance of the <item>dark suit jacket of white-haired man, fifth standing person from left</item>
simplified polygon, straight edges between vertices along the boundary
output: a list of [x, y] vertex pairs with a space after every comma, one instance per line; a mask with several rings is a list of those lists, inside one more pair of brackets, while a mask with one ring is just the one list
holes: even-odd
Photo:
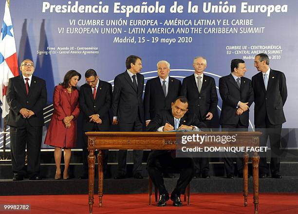
[[156, 113], [162, 109], [171, 109], [171, 103], [179, 97], [180, 80], [169, 77], [168, 81], [167, 97], [165, 97], [159, 77], [147, 81], [144, 94], [145, 120], [154, 118]]

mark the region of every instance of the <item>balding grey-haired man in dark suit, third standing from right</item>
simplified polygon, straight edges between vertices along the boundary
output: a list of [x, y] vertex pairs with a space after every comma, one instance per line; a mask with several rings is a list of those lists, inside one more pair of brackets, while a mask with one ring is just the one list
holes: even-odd
[[[218, 102], [215, 80], [204, 73], [207, 61], [203, 57], [196, 57], [193, 60], [195, 72], [193, 75], [184, 78], [181, 95], [185, 96], [189, 102], [189, 110], [195, 113], [203, 121], [207, 130], [211, 131], [211, 119], [216, 113]], [[196, 173], [194, 177], [210, 178], [209, 158], [194, 158]]]

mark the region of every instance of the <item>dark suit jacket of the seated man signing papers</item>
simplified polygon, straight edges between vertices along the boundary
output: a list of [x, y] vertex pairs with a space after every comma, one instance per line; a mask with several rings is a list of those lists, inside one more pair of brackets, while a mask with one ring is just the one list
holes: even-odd
[[[146, 131], [148, 132], [156, 132], [157, 129], [161, 126], [164, 126], [166, 122], [169, 122], [173, 127], [175, 125], [174, 117], [172, 115], [171, 110], [161, 110], [157, 113], [157, 115], [149, 122], [148, 126], [146, 127]], [[193, 125], [200, 129], [206, 128], [205, 123], [201, 122], [195, 114], [192, 114], [191, 112], [186, 112], [184, 117], [180, 119], [179, 126], [181, 125]], [[168, 150], [153, 150], [149, 156], [148, 161], [150, 158], [155, 158], [156, 156], [160, 156], [164, 153], [168, 152]]]

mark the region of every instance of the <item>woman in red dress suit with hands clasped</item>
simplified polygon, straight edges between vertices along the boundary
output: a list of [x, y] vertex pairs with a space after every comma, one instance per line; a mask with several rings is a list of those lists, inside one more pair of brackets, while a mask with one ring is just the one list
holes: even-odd
[[76, 143], [76, 118], [79, 115], [77, 82], [81, 75], [70, 70], [64, 76], [63, 82], [55, 86], [53, 95], [54, 113], [48, 128], [45, 144], [55, 146], [55, 179], [61, 178], [61, 154], [64, 148], [63, 179], [69, 179], [68, 167], [71, 159], [71, 148]]

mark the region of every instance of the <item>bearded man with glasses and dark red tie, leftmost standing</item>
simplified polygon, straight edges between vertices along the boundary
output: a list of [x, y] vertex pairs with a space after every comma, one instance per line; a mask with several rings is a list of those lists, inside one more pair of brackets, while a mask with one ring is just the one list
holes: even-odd
[[32, 60], [25, 59], [19, 69], [22, 75], [9, 79], [6, 95], [10, 107], [7, 125], [10, 126], [13, 180], [23, 180], [26, 174], [31, 180], [39, 180], [43, 108], [47, 102], [46, 83], [32, 76], [35, 70]]

